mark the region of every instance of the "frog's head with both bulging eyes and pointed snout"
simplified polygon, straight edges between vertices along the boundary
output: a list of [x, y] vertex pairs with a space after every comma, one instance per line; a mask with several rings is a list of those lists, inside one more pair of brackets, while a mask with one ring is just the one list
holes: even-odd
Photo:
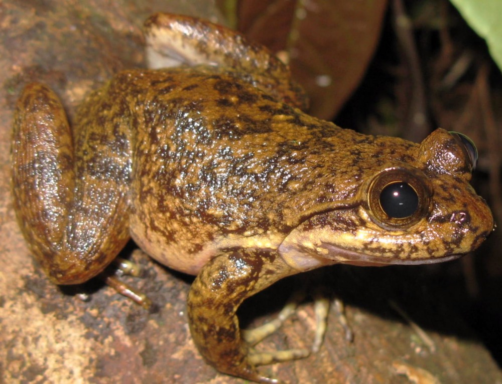
[[279, 247], [284, 260], [299, 270], [333, 263], [426, 264], [477, 248], [494, 223], [469, 184], [474, 144], [438, 129], [413, 150], [412, 161], [389, 155], [366, 172], [349, 200], [310, 214]]

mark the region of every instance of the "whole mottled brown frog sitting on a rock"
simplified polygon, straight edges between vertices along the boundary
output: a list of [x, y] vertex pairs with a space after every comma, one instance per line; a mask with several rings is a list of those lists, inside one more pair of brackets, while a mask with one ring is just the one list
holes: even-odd
[[256, 351], [236, 315], [245, 299], [334, 264], [453, 260], [492, 232], [467, 136], [414, 143], [310, 116], [288, 65], [203, 19], [156, 14], [145, 39], [149, 68], [91, 92], [71, 127], [44, 84], [17, 103], [14, 208], [55, 284], [99, 275], [133, 239], [195, 276], [188, 323], [204, 360], [270, 383], [260, 365], [306, 354]]

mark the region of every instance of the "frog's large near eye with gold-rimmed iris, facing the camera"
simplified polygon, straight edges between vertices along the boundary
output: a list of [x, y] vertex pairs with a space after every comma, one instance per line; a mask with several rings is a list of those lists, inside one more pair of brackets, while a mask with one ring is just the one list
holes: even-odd
[[429, 190], [425, 175], [418, 169], [385, 169], [369, 185], [369, 214], [387, 229], [410, 227], [429, 210]]

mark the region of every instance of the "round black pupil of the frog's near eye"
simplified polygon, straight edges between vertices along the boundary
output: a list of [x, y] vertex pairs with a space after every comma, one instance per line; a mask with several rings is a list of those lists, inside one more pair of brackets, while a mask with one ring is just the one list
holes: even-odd
[[410, 184], [397, 181], [388, 184], [380, 194], [382, 210], [393, 219], [410, 217], [418, 209], [418, 195]]

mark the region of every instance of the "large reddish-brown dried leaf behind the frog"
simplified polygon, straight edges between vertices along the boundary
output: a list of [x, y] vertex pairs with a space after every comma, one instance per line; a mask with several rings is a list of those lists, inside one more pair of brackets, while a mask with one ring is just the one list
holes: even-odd
[[274, 52], [285, 50], [311, 98], [311, 114], [332, 118], [371, 60], [387, 0], [241, 0], [237, 27]]

